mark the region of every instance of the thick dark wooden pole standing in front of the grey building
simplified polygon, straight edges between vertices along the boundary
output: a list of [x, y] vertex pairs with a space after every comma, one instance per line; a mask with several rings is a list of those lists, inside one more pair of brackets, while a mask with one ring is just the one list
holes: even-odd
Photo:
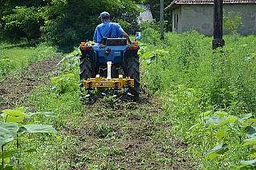
[[222, 39], [223, 0], [214, 0], [213, 4], [213, 49], [225, 45]]

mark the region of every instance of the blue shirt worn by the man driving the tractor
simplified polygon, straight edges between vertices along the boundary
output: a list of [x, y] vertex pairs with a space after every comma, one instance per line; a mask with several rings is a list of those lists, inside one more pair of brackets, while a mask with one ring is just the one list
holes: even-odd
[[100, 43], [104, 37], [121, 38], [124, 30], [122, 27], [114, 22], [104, 22], [98, 25], [95, 29], [93, 40]]

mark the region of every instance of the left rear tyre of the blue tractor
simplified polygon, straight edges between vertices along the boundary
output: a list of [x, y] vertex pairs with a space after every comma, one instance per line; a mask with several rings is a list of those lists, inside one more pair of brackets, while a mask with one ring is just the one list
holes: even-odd
[[82, 55], [80, 57], [80, 86], [83, 87], [83, 80], [87, 80], [87, 78], [91, 78], [92, 71], [92, 61], [89, 55]]

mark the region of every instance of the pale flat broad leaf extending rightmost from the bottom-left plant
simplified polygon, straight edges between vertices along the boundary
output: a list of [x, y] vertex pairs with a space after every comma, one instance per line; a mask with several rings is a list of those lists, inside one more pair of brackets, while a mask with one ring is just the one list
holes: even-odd
[[52, 125], [40, 124], [23, 125], [18, 132], [53, 132], [55, 135], [58, 133]]

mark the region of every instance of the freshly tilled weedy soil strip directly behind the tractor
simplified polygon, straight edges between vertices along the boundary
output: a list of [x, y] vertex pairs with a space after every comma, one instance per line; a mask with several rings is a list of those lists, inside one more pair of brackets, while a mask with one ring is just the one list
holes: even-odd
[[[66, 132], [78, 140], [71, 169], [195, 169], [187, 144], [171, 134], [172, 124], [150, 94], [138, 103], [99, 100], [68, 119]], [[159, 119], [159, 120], [158, 120]], [[83, 121], [82, 121], [83, 120]]]

